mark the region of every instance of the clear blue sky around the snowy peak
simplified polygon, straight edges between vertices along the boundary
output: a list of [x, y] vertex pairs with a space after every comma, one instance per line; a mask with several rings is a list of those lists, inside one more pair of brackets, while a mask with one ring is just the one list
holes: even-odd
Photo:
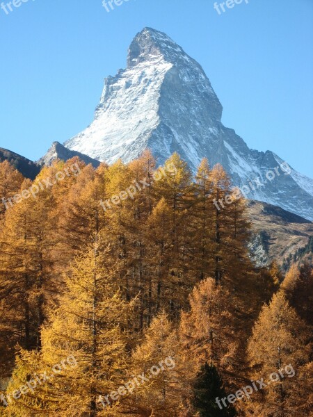
[[243, 0], [221, 15], [213, 5], [129, 0], [107, 13], [102, 0], [29, 0], [0, 10], [0, 147], [35, 160], [84, 129], [104, 77], [151, 26], [204, 67], [226, 126], [313, 177], [313, 0]]

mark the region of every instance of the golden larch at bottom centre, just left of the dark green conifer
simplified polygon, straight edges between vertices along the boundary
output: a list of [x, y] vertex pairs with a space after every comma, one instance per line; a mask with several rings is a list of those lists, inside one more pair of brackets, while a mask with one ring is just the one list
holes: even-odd
[[134, 375], [145, 375], [145, 382], [129, 398], [129, 411], [134, 415], [156, 417], [178, 416], [182, 409], [182, 372], [179, 343], [166, 313], [159, 313], [144, 332], [143, 342], [132, 355]]

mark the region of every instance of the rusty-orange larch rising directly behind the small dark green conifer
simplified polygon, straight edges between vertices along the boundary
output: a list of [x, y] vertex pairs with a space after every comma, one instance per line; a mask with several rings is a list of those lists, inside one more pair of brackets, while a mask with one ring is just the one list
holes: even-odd
[[233, 294], [213, 278], [201, 281], [189, 297], [191, 309], [182, 312], [179, 334], [186, 357], [193, 359], [189, 373], [195, 377], [201, 363], [213, 363], [227, 386], [236, 387], [243, 369]]

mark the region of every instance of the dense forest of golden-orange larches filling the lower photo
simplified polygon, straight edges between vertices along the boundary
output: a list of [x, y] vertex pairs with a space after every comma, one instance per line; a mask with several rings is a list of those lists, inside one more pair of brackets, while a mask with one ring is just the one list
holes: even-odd
[[313, 416], [312, 267], [256, 268], [239, 194], [178, 154], [0, 163], [0, 416]]

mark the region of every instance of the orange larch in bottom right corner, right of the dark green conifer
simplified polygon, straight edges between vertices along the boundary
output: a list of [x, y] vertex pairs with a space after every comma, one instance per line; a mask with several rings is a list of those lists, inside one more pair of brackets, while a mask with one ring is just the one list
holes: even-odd
[[[307, 415], [310, 390], [304, 370], [310, 363], [308, 340], [305, 322], [279, 291], [264, 305], [252, 329], [248, 358], [255, 373], [251, 376], [263, 377], [267, 386], [251, 397], [247, 409], [252, 407], [262, 416]], [[300, 396], [295, 398], [294, 393], [299, 391]]]

